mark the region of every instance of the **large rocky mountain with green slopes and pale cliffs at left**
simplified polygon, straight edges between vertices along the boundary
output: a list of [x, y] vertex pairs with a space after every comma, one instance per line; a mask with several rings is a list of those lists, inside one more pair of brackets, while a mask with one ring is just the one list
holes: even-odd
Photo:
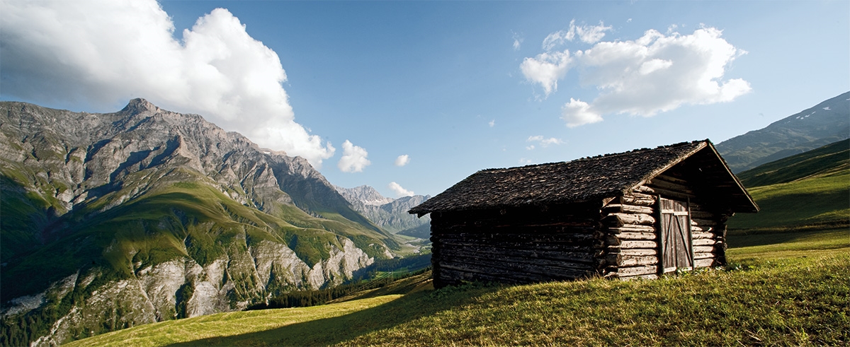
[[4, 345], [241, 310], [398, 248], [306, 160], [143, 99], [0, 103], [0, 179]]

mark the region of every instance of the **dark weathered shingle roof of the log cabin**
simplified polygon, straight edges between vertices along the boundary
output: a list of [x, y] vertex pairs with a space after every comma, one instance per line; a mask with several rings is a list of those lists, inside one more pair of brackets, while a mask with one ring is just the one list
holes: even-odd
[[[714, 150], [709, 140], [703, 140], [561, 163], [478, 171], [408, 213], [604, 199], [638, 186], [706, 147]], [[719, 154], [717, 158], [726, 167]], [[738, 182], [734, 176], [732, 179]], [[737, 185], [740, 187], [740, 182]], [[749, 198], [744, 188], [740, 189]]]

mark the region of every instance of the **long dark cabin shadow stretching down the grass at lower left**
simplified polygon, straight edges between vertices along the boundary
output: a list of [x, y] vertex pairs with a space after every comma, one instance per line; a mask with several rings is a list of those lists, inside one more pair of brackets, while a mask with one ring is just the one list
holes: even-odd
[[305, 346], [338, 344], [464, 305], [497, 287], [422, 291], [345, 316], [301, 322], [257, 333], [198, 339], [171, 346]]

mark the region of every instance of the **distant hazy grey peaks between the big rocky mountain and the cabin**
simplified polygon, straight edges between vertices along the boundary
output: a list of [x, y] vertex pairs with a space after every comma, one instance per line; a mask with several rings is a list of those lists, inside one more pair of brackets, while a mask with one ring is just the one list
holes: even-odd
[[[337, 191], [351, 203], [354, 210], [365, 215], [378, 227], [388, 232], [428, 238], [431, 217], [425, 215], [422, 218], [416, 218], [416, 215], [408, 214], [407, 210], [430, 199], [429, 195], [406, 196], [399, 199], [384, 198], [375, 188], [369, 186], [337, 187]], [[422, 232], [423, 229], [424, 232]]]

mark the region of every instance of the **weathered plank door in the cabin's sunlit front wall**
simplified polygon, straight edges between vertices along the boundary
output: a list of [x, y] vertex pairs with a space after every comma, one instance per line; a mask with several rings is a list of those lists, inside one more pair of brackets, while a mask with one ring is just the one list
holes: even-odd
[[688, 202], [659, 197], [661, 273], [694, 268]]

